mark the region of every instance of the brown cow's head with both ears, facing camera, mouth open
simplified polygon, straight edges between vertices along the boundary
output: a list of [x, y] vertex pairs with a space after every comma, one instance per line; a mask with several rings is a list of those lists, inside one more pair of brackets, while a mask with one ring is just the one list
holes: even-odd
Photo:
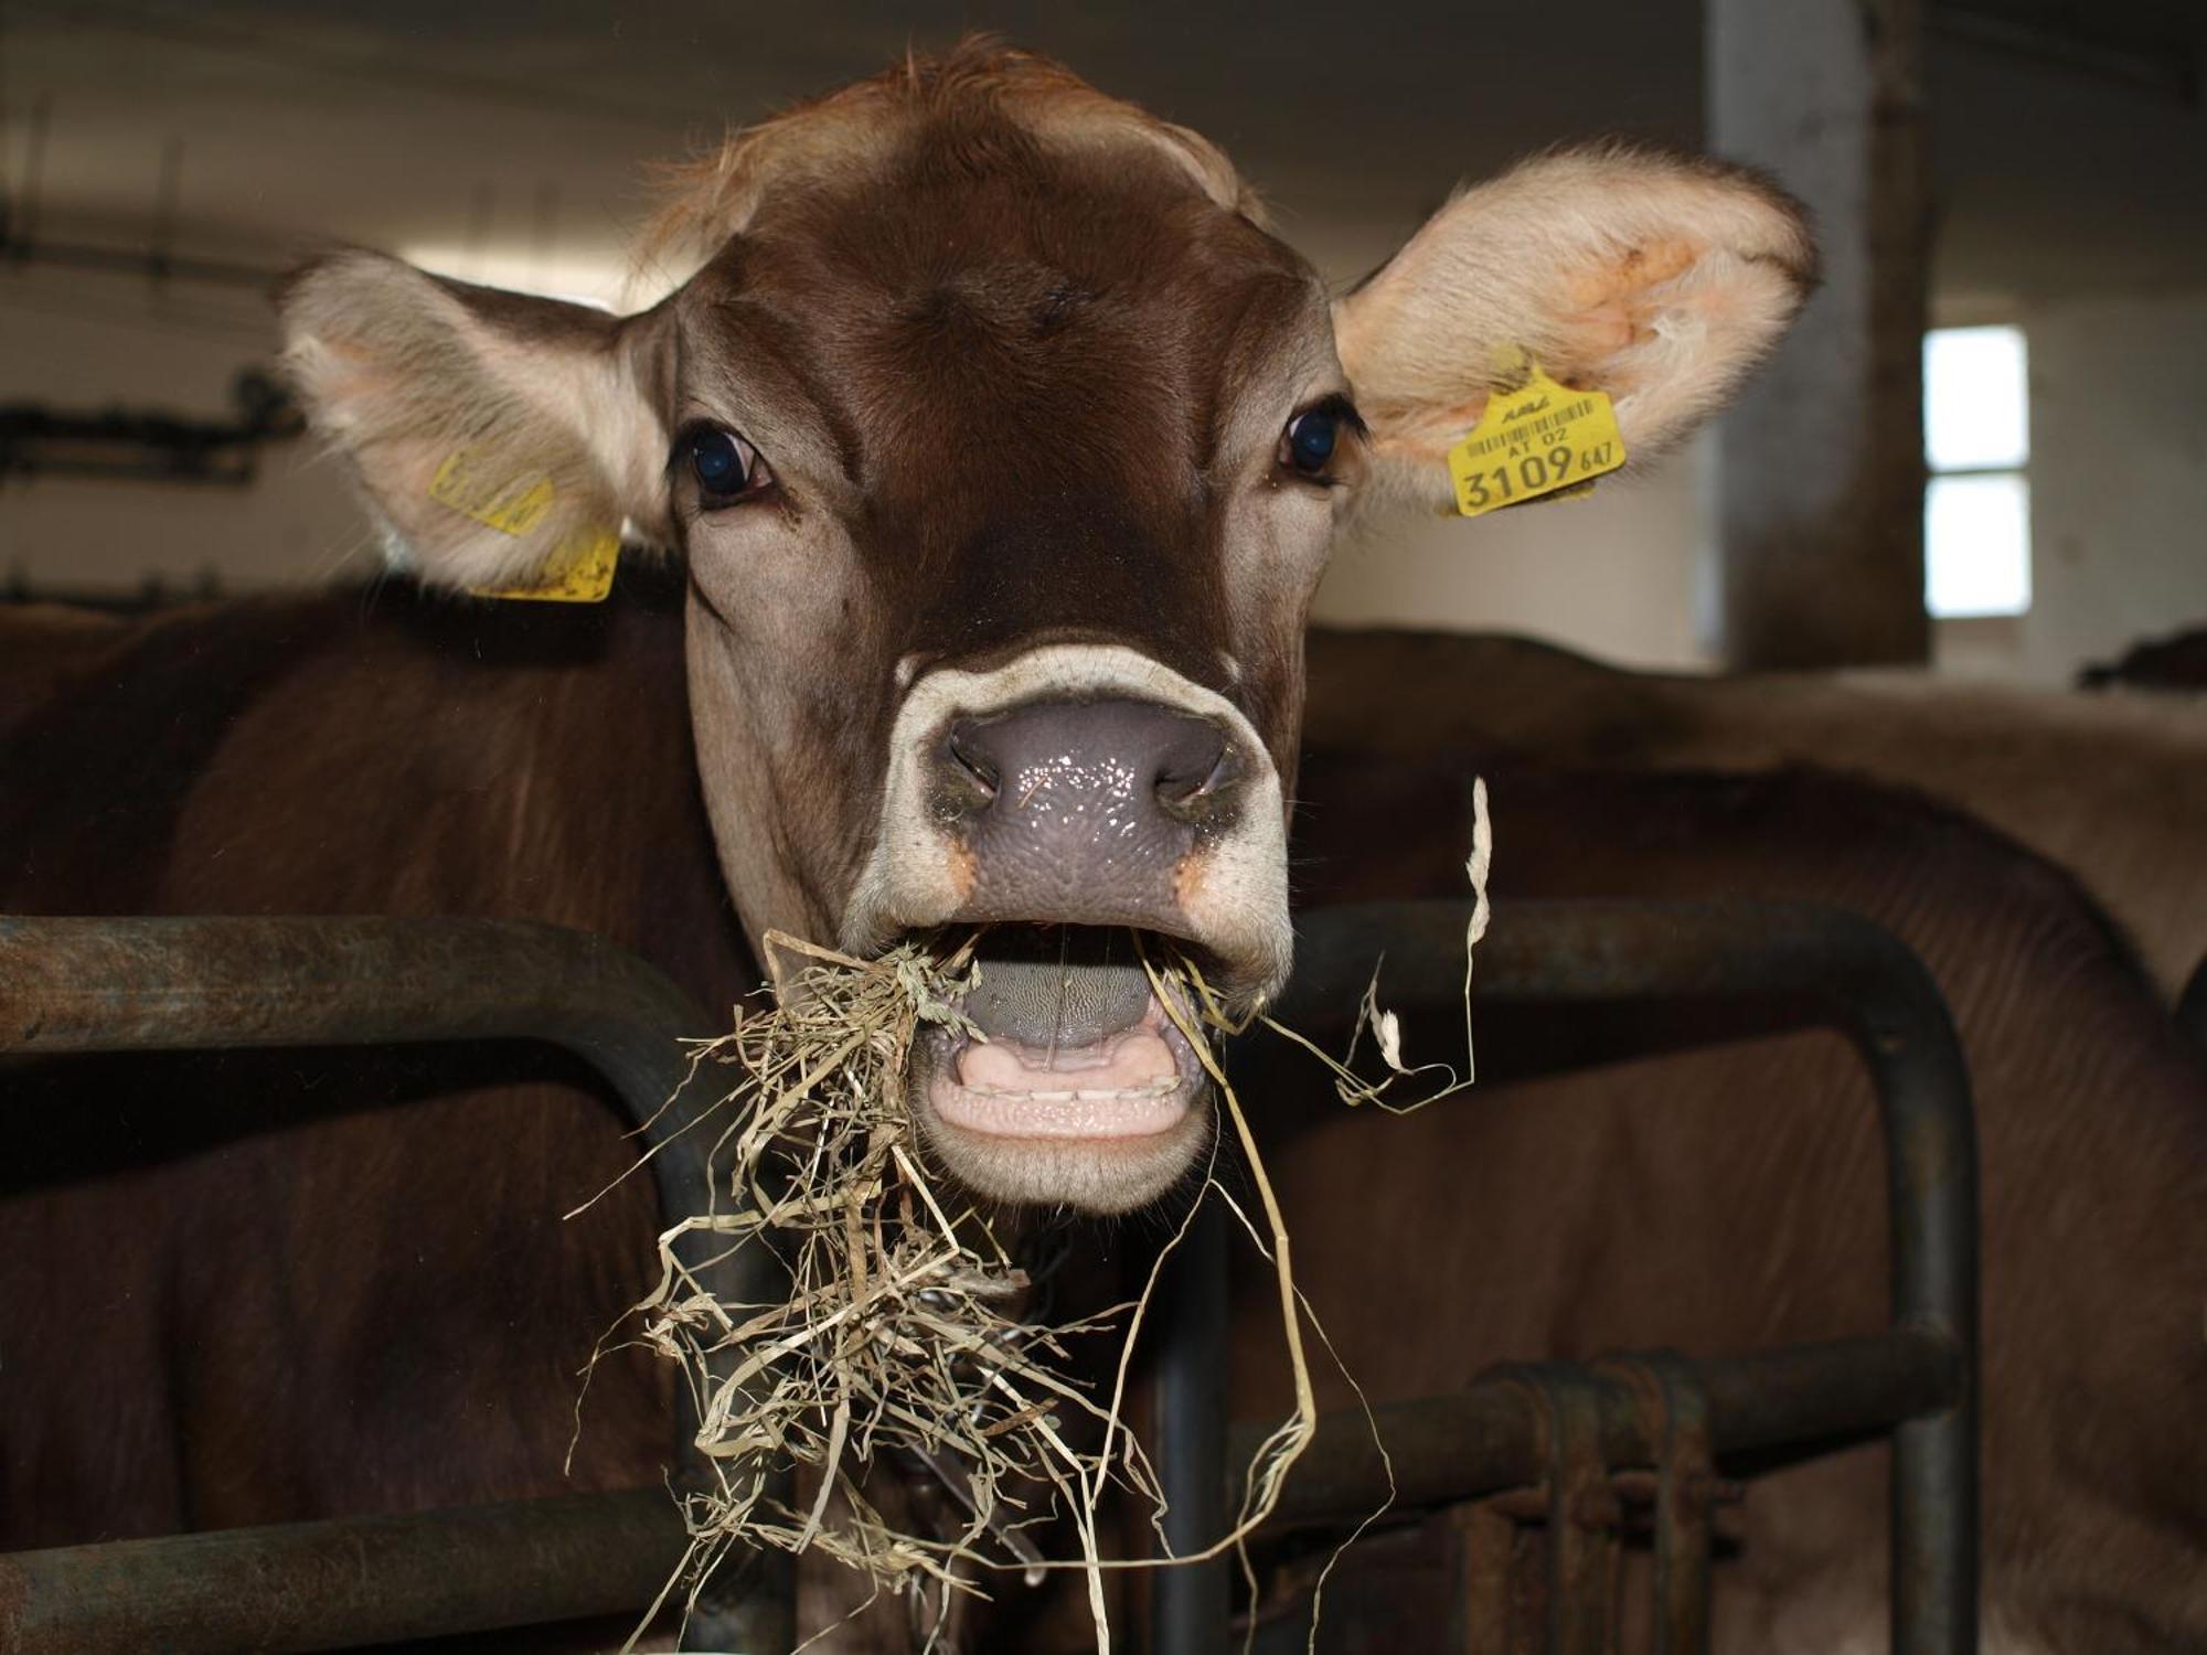
[[[1159, 1194], [1209, 1119], [1130, 931], [1240, 1004], [1287, 975], [1302, 629], [1344, 510], [1446, 503], [1514, 349], [1662, 448], [1810, 265], [1750, 177], [1576, 152], [1329, 305], [1209, 143], [993, 49], [737, 137], [671, 225], [702, 267], [627, 318], [324, 258], [285, 296], [296, 377], [430, 580], [525, 583], [614, 525], [686, 560], [753, 938], [995, 922], [991, 1039], [923, 1046], [914, 1108], [975, 1189], [1090, 1209]], [[525, 510], [455, 510], [455, 455]]]

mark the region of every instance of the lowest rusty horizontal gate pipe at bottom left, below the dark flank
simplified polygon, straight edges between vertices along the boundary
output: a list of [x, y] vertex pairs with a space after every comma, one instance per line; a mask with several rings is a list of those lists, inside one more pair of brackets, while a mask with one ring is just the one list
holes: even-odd
[[636, 1613], [682, 1545], [667, 1492], [640, 1490], [0, 1553], [0, 1648], [313, 1651]]

